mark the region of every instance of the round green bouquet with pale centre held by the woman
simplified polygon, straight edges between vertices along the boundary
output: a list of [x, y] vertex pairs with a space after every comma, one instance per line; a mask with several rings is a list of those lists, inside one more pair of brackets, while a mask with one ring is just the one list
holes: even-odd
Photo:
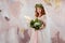
[[42, 22], [38, 18], [31, 19], [30, 20], [30, 27], [34, 28], [35, 30], [39, 30], [42, 26]]

